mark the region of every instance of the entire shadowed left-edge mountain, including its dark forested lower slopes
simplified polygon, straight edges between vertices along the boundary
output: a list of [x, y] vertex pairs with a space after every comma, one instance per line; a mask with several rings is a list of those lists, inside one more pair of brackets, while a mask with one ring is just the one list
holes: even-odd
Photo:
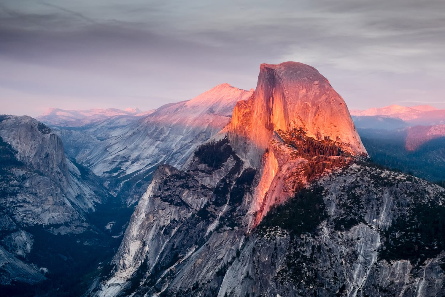
[[56, 263], [63, 271], [73, 260], [64, 256], [73, 255], [70, 248], [89, 249], [80, 241], [87, 236], [78, 235], [94, 229], [86, 216], [109, 194], [96, 176], [66, 159], [48, 126], [26, 116], [0, 118], [0, 173], [0, 285], [24, 289], [23, 283], [55, 273]]

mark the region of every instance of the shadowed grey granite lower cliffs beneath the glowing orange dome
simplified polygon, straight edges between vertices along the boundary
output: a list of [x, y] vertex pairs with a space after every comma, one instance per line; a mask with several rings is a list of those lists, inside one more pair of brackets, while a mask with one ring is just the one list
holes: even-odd
[[[348, 165], [307, 186], [323, 189], [319, 207], [325, 218], [313, 230], [296, 234], [280, 226], [259, 224], [251, 229], [243, 223], [253, 188], [238, 205], [230, 193], [218, 204], [215, 188], [203, 191], [205, 186], [185, 172], [161, 167], [155, 176], [132, 217], [112, 273], [89, 295], [328, 297], [445, 292], [440, 266], [444, 252], [438, 250], [420, 264], [386, 259], [383, 253], [386, 232], [397, 218], [416, 212], [416, 205], [445, 202], [445, 190], [437, 185], [367, 165]], [[227, 174], [222, 179], [229, 192], [239, 176]], [[194, 191], [193, 200], [205, 204], [192, 206], [179, 199], [187, 196], [184, 188]], [[298, 224], [307, 216], [288, 217], [285, 209], [276, 213], [283, 216], [280, 220]]]

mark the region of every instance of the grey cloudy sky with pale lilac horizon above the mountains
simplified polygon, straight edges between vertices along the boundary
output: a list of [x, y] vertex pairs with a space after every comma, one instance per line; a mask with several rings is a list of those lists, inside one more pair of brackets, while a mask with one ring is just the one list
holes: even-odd
[[151, 110], [284, 61], [350, 109], [445, 108], [444, 49], [444, 0], [1, 0], [0, 114]]

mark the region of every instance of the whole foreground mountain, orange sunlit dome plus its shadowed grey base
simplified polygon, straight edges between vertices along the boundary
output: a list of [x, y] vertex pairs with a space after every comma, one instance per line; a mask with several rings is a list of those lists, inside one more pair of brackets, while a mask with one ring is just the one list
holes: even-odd
[[368, 163], [348, 110], [327, 99], [327, 82], [328, 94], [315, 87], [324, 101], [310, 96], [303, 111], [288, 104], [300, 98], [300, 80], [283, 73], [298, 67], [315, 73], [262, 65], [259, 87], [229, 127], [184, 170], [158, 167], [111, 266], [86, 295], [445, 293], [445, 190]]

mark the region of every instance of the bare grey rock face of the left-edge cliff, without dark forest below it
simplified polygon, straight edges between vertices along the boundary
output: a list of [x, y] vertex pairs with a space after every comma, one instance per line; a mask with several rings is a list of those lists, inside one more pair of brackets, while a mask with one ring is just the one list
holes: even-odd
[[10, 199], [18, 220], [63, 224], [93, 211], [94, 203], [102, 201], [95, 193], [98, 189], [81, 183], [81, 172], [66, 159], [61, 139], [44, 124], [27, 116], [6, 116], [0, 122], [0, 137], [27, 169], [13, 172], [17, 180], [23, 179], [18, 188], [29, 189]]

